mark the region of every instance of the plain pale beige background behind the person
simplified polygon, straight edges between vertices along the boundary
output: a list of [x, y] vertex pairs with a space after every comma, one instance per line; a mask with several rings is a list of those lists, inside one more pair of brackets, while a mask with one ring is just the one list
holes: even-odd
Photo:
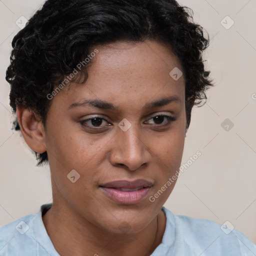
[[[42, 2], [0, 0], [0, 225], [51, 202], [48, 167], [35, 167], [33, 154], [10, 129], [4, 79], [10, 43], [19, 30], [15, 21], [29, 18]], [[202, 154], [180, 175], [165, 207], [220, 224], [228, 220], [256, 243], [256, 1], [179, 2], [193, 9], [194, 20], [209, 33], [205, 57], [215, 87], [207, 92], [207, 103], [193, 109], [182, 163], [197, 150]], [[234, 21], [229, 29], [220, 23], [226, 15]], [[230, 21], [223, 20], [225, 26]], [[221, 127], [226, 118], [234, 124], [229, 131]]]

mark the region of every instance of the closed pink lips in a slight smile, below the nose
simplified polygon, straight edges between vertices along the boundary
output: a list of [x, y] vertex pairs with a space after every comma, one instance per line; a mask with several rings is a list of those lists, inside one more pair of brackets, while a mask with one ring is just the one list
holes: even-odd
[[[143, 198], [145, 198], [145, 196], [151, 189], [151, 186], [152, 182], [144, 179], [137, 179], [134, 181], [115, 180], [100, 185], [100, 188], [108, 197], [110, 197], [117, 203], [135, 204], [143, 200]], [[125, 191], [122, 191], [120, 189], [124, 189]], [[138, 190], [126, 191], [126, 189]]]

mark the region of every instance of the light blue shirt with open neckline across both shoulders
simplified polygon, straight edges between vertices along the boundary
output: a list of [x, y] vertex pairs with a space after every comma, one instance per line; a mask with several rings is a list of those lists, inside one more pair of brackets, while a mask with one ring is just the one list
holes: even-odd
[[[50, 206], [51, 203], [43, 204], [36, 214], [1, 226], [0, 255], [59, 256], [41, 217]], [[256, 245], [241, 232], [211, 220], [173, 215], [162, 209], [166, 227], [162, 242], [151, 256], [256, 256]]]

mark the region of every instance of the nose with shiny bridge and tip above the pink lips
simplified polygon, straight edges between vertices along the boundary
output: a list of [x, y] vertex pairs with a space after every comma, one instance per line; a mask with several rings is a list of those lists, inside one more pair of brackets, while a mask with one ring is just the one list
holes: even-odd
[[138, 128], [132, 126], [126, 131], [120, 129], [113, 137], [110, 152], [110, 162], [113, 166], [136, 170], [141, 165], [147, 165], [151, 159], [145, 137]]

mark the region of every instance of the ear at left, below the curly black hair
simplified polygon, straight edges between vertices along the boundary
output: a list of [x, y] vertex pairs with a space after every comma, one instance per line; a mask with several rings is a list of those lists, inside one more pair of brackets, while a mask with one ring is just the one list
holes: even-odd
[[25, 106], [17, 106], [16, 114], [21, 134], [27, 145], [37, 153], [45, 152], [45, 132], [40, 118]]

